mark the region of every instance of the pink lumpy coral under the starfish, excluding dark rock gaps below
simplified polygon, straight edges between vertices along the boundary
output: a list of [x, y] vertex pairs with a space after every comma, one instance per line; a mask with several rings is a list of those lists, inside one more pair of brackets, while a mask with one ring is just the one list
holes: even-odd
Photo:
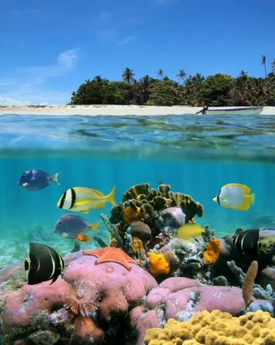
[[[131, 270], [128, 271], [114, 262], [95, 265], [97, 258], [93, 255], [82, 255], [82, 252], [70, 254], [68, 257], [64, 258], [68, 265], [63, 272], [63, 278], [59, 277], [52, 285], [50, 282], [26, 284], [16, 292], [11, 291], [6, 297], [3, 331], [14, 343], [19, 340], [28, 342], [33, 334], [30, 334], [30, 329], [35, 332], [31, 322], [37, 311], [46, 313], [51, 320], [52, 313], [65, 305], [73, 313], [67, 311], [67, 323], [64, 326], [59, 325], [61, 334], [69, 337], [61, 344], [69, 344], [70, 341], [85, 344], [87, 339], [90, 339], [92, 344], [97, 344], [105, 337], [104, 329], [108, 322], [110, 327], [112, 322], [115, 322], [112, 320], [113, 316], [126, 317], [130, 309], [139, 305], [146, 297], [149, 290], [157, 287], [153, 276], [135, 263], [129, 263]], [[94, 319], [87, 316], [93, 311], [96, 311]], [[118, 324], [114, 326], [118, 327]], [[53, 327], [56, 329], [56, 326]], [[17, 330], [22, 329], [26, 329], [26, 334], [20, 336]], [[39, 330], [43, 330], [41, 323]]]

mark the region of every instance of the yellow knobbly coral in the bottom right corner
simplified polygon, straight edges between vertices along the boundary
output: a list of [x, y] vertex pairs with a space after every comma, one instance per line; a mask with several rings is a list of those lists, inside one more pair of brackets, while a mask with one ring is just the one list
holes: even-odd
[[201, 311], [189, 321], [168, 320], [164, 329], [147, 330], [146, 345], [275, 345], [275, 318], [268, 312], [233, 317], [228, 312]]

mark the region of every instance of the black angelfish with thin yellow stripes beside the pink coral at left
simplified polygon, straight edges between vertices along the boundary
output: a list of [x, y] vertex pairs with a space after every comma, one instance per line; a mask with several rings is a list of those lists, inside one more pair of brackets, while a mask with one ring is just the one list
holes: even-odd
[[29, 259], [24, 260], [24, 270], [29, 271], [29, 285], [48, 280], [52, 280], [51, 284], [53, 284], [63, 269], [64, 261], [52, 247], [30, 242]]

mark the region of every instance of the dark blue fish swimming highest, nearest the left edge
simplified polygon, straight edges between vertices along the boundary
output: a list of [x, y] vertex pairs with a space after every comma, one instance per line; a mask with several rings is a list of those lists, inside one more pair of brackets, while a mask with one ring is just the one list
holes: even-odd
[[17, 184], [28, 191], [40, 190], [48, 187], [52, 182], [59, 184], [58, 176], [59, 173], [50, 176], [48, 173], [42, 172], [41, 170], [30, 169], [23, 173]]

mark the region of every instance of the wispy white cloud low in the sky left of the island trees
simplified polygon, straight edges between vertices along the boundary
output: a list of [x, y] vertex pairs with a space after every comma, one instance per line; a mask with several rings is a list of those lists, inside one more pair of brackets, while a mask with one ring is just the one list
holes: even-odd
[[0, 78], [0, 104], [64, 104], [70, 93], [47, 90], [45, 83], [53, 77], [68, 74], [76, 65], [78, 49], [60, 53], [55, 65], [16, 69], [13, 78]]

